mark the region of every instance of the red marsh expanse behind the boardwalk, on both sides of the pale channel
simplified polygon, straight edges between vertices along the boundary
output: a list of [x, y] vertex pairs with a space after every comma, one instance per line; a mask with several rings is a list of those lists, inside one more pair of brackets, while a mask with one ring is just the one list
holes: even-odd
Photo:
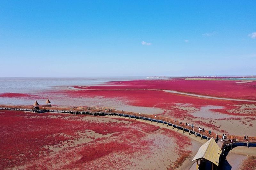
[[[223, 118], [224, 120], [228, 117], [228, 120], [233, 121], [235, 126], [235, 124], [237, 124], [236, 120], [238, 120], [237, 116], [256, 116], [255, 103], [198, 98], [195, 96], [164, 92], [162, 90], [175, 90], [234, 99], [255, 99], [255, 81], [247, 83], [237, 82], [240, 81], [184, 79], [133, 80], [108, 82], [104, 85], [97, 86], [76, 86], [76, 88], [80, 88], [81, 90], [67, 90], [64, 92], [60, 91], [60, 93], [65, 93], [65, 95], [71, 98], [82, 97], [93, 99], [95, 97], [101, 97], [101, 100], [118, 99], [130, 106], [161, 108], [164, 110], [161, 116], [176, 118], [192, 123], [194, 122], [199, 126], [201, 125], [213, 130], [224, 132], [226, 129], [219, 128], [219, 121], [207, 123], [207, 120], [211, 120], [211, 115], [213, 113], [217, 114], [215, 117], [213, 116], [213, 119]], [[211, 106], [218, 106], [219, 108], [211, 108]], [[200, 117], [198, 114], [197, 116], [199, 117], [193, 115], [194, 112], [200, 111], [202, 107], [209, 108], [207, 112], [202, 112], [202, 116], [208, 115], [206, 116], [208, 118]], [[240, 119], [241, 118], [243, 117], [240, 117]], [[238, 122], [241, 122], [241, 120], [238, 120]], [[251, 123], [251, 125], [249, 124], [250, 123], [248, 123], [248, 127], [253, 126], [253, 123]], [[233, 134], [234, 132], [231, 131], [230, 133]]]

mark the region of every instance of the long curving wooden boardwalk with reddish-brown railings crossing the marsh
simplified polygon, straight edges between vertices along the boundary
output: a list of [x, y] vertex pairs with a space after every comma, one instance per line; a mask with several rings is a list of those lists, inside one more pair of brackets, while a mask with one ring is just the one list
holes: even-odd
[[[209, 130], [202, 131], [199, 130], [199, 127], [193, 126], [191, 127], [191, 124], [188, 126], [184, 122], [177, 121], [175, 119], [162, 117], [159, 115], [148, 115], [148, 114], [141, 114], [141, 113], [135, 113], [135, 112], [125, 112], [116, 110], [115, 108], [97, 108], [97, 107], [71, 107], [71, 108], [61, 108], [61, 107], [51, 107], [51, 108], [44, 108], [40, 107], [39, 109], [33, 109], [31, 106], [6, 106], [6, 105], [0, 105], [0, 109], [2, 110], [20, 110], [20, 111], [35, 111], [38, 113], [41, 112], [56, 112], [56, 113], [71, 113], [71, 114], [90, 114], [90, 115], [118, 115], [118, 116], [124, 116], [129, 118], [135, 118], [135, 119], [144, 119], [150, 120], [151, 122], [157, 122], [157, 123], [163, 123], [167, 124], [167, 126], [172, 126], [172, 128], [182, 129], [183, 133], [184, 131], [188, 131], [190, 134], [195, 134], [195, 136], [201, 136], [201, 138], [216, 138], [217, 134], [214, 132], [209, 133]], [[218, 138], [221, 138], [221, 135], [218, 135]], [[227, 139], [235, 139], [236, 141], [243, 141], [244, 137], [241, 136], [231, 136], [227, 135]], [[228, 140], [231, 141], [231, 140]], [[227, 142], [227, 141], [225, 141]], [[256, 143], [256, 137], [248, 137], [247, 142], [255, 142]]]

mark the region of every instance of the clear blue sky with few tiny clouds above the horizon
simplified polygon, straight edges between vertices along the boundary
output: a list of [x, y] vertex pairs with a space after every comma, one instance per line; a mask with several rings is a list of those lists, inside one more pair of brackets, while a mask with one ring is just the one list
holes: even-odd
[[0, 1], [0, 77], [256, 75], [255, 1]]

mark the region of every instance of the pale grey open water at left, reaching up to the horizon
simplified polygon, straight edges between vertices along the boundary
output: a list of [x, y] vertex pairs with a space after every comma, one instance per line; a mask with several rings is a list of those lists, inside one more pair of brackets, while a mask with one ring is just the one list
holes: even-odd
[[108, 81], [128, 81], [146, 77], [47, 77], [47, 78], [0, 78], [0, 93], [34, 93], [55, 86], [99, 85]]

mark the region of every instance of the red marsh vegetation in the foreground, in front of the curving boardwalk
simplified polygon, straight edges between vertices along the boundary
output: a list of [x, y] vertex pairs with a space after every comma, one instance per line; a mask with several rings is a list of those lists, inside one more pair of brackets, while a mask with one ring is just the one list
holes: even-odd
[[166, 169], [191, 153], [188, 137], [129, 119], [0, 111], [0, 129], [0, 169]]

